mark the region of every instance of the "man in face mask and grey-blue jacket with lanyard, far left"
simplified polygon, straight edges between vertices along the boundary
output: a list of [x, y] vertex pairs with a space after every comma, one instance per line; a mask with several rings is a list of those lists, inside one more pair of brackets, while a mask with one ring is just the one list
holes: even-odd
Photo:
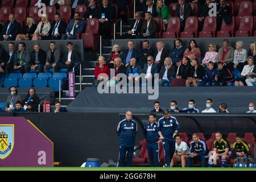
[[15, 107], [16, 101], [22, 101], [22, 97], [18, 94], [18, 90], [15, 86], [11, 86], [9, 91], [11, 95], [7, 97], [5, 111], [11, 112]]

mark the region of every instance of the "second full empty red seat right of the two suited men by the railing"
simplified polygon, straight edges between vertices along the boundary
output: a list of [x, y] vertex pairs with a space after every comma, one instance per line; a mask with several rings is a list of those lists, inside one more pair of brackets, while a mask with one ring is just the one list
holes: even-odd
[[196, 38], [197, 28], [198, 28], [197, 16], [189, 16], [186, 19], [184, 31], [180, 33], [180, 38]]

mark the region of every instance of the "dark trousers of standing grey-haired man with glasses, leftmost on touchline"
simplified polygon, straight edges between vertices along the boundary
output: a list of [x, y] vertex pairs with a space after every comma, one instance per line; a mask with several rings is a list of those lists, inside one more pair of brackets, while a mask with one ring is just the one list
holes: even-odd
[[[124, 167], [123, 164], [125, 162], [126, 157], [126, 167], [131, 166], [131, 160], [133, 159], [133, 151], [134, 147], [119, 147], [119, 159], [118, 159], [118, 167]], [[127, 156], [126, 156], [127, 152]]]

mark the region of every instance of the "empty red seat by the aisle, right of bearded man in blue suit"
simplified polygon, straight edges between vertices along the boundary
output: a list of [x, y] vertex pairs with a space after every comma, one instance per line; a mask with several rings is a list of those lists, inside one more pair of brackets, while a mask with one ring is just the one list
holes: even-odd
[[93, 51], [98, 49], [98, 19], [90, 18], [87, 20], [85, 33], [81, 35], [81, 39], [84, 40], [85, 48], [92, 48]]

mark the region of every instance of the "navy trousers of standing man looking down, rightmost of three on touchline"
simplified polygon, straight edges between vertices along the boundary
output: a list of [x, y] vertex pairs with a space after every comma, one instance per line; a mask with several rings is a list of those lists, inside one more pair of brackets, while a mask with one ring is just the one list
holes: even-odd
[[166, 158], [166, 165], [170, 166], [171, 159], [175, 152], [175, 140], [163, 139], [164, 157]]

